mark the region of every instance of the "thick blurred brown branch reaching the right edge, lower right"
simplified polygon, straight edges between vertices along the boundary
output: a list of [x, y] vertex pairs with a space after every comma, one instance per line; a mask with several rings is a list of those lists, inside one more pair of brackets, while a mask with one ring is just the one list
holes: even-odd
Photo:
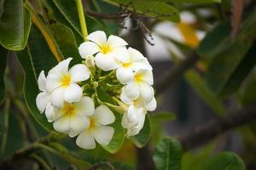
[[191, 132], [179, 138], [184, 150], [207, 143], [226, 131], [256, 121], [256, 105], [250, 105], [238, 111], [230, 111], [226, 116], [195, 127]]

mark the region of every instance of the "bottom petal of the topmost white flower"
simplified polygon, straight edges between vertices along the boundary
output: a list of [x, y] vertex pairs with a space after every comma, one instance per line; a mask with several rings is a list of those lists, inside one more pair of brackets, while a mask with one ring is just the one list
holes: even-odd
[[96, 66], [101, 68], [103, 71], [111, 71], [116, 69], [119, 65], [117, 65], [116, 61], [108, 54], [98, 53], [96, 54]]

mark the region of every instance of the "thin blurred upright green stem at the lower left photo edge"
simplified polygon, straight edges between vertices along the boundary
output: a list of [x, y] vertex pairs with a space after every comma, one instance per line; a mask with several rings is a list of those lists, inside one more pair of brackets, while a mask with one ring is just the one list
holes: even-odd
[[1, 146], [1, 156], [3, 156], [8, 136], [8, 128], [9, 128], [9, 105], [10, 99], [5, 100], [4, 111], [3, 111], [3, 139]]

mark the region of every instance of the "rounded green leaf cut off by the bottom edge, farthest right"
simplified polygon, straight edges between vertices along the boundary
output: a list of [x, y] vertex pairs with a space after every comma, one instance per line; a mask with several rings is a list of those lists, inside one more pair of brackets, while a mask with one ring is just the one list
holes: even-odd
[[244, 162], [232, 152], [222, 152], [210, 158], [201, 170], [245, 170]]

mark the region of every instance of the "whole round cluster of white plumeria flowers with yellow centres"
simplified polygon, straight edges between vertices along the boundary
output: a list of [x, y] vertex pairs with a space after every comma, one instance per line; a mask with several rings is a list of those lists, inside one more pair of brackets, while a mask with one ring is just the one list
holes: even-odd
[[156, 101], [152, 67], [143, 54], [103, 31], [90, 33], [87, 40], [79, 46], [82, 63], [70, 67], [72, 58], [67, 58], [47, 76], [41, 71], [36, 104], [55, 131], [77, 137], [81, 148], [94, 149], [96, 142], [107, 145], [113, 139], [114, 114], [122, 114], [119, 124], [126, 136], [134, 136]]

